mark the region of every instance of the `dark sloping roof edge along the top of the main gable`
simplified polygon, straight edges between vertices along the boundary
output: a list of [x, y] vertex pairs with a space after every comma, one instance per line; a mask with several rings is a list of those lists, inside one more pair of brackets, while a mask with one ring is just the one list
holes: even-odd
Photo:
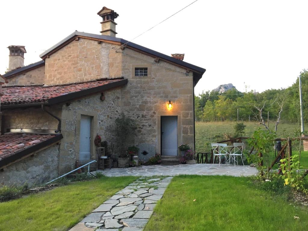
[[198, 67], [195, 66], [193, 64], [190, 63], [186, 63], [184, 61], [181, 61], [179, 59], [175, 59], [172, 58], [169, 55], [165, 55], [162, 54], [160, 52], [151, 50], [149, 48], [140, 46], [136, 43], [132, 43], [132, 42], [128, 42], [125, 39], [121, 39], [121, 38], [116, 38], [113, 36], [108, 36], [108, 35], [100, 35], [100, 34], [90, 34], [90, 33], [85, 33], [85, 32], [79, 32], [79, 31], [75, 31], [74, 33], [70, 34], [69, 36], [67, 36], [65, 39], [61, 40], [59, 43], [55, 44], [54, 46], [52, 46], [51, 48], [49, 48], [48, 50], [46, 50], [45, 52], [43, 52], [40, 57], [42, 59], [45, 59], [48, 55], [51, 55], [53, 53], [54, 50], [58, 50], [61, 46], [65, 45], [67, 43], [67, 41], [72, 40], [74, 37], [78, 37], [78, 36], [83, 36], [83, 37], [88, 37], [88, 38], [92, 38], [92, 39], [97, 39], [97, 40], [106, 40], [106, 41], [112, 41], [112, 42], [116, 42], [116, 43], [121, 43], [121, 44], [126, 44], [126, 46], [128, 47], [132, 47], [134, 49], [143, 51], [145, 53], [148, 53], [150, 55], [153, 55], [154, 57], [159, 57], [161, 59], [165, 59], [171, 63], [175, 63], [177, 65], [180, 65], [182, 67], [186, 67], [188, 69], [191, 69], [192, 71], [196, 71], [199, 74], [201, 74], [201, 76], [204, 74], [204, 72], [206, 71], [204, 68], [202, 67]]

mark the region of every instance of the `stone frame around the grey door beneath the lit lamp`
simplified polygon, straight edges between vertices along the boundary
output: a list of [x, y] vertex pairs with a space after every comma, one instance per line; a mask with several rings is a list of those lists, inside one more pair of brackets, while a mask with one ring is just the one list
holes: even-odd
[[[157, 152], [161, 154], [161, 120], [162, 116], [176, 116], [177, 117], [177, 144], [182, 143], [182, 112], [181, 111], [158, 111], [157, 112]], [[181, 155], [179, 149], [177, 149], [177, 157]], [[176, 156], [174, 156], [176, 157]]]

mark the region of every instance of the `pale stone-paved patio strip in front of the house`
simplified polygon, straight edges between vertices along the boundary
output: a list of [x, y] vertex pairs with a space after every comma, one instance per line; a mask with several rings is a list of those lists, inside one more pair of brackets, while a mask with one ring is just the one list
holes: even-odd
[[111, 168], [97, 170], [105, 176], [177, 176], [187, 175], [227, 175], [252, 176], [257, 169], [242, 165], [221, 164], [179, 164], [179, 165], [141, 165], [132, 168]]

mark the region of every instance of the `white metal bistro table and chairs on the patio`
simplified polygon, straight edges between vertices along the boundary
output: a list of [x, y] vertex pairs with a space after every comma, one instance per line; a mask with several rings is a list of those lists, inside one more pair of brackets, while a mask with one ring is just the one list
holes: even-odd
[[227, 144], [219, 144], [219, 143], [211, 143], [212, 149], [213, 149], [213, 164], [215, 162], [215, 156], [219, 159], [219, 165], [221, 164], [221, 157], [224, 156], [225, 158], [225, 164], [230, 164], [232, 161], [237, 164], [237, 157], [240, 156], [242, 163], [244, 165], [243, 161], [243, 149], [244, 149], [244, 143], [233, 143], [233, 145], [227, 145]]

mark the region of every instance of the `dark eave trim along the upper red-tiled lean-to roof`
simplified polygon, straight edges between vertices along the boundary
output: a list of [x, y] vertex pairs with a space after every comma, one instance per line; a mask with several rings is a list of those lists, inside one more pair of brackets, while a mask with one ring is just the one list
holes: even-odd
[[67, 100], [80, 98], [80, 97], [83, 97], [83, 96], [86, 96], [86, 95], [91, 95], [91, 94], [101, 92], [101, 91], [106, 91], [110, 88], [125, 85], [125, 84], [127, 84], [127, 82], [128, 82], [127, 79], [122, 79], [120, 81], [116, 81], [116, 82], [113, 82], [113, 83], [107, 83], [107, 84], [102, 85], [102, 86], [92, 87], [92, 88], [89, 88], [89, 89], [76, 91], [76, 92], [69, 93], [69, 94], [66, 94], [66, 95], [61, 95], [61, 96], [58, 96], [58, 97], [48, 99], [48, 104], [52, 105], [52, 104], [56, 104], [56, 103], [62, 103], [62, 102], [65, 102]]

